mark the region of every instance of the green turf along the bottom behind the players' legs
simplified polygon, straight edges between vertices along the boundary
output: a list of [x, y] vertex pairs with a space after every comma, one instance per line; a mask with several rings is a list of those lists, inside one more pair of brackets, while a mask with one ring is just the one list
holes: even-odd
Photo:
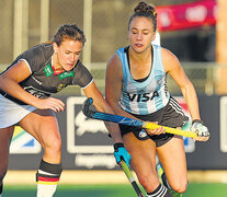
[[[35, 197], [35, 186], [7, 186], [3, 197]], [[59, 185], [55, 197], [136, 197], [133, 187], [123, 185]], [[227, 184], [189, 185], [183, 197], [226, 197]]]

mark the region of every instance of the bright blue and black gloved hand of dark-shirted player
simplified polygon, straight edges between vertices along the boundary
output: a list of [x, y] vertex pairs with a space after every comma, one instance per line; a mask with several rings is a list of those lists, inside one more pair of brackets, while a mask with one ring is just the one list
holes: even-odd
[[114, 143], [114, 157], [116, 159], [116, 163], [118, 164], [123, 159], [127, 166], [129, 166], [130, 154], [128, 154], [127, 150], [124, 148], [123, 143]]

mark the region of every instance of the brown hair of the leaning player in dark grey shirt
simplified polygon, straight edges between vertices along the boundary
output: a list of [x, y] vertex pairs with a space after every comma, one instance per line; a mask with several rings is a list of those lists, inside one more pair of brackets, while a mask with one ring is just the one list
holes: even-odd
[[60, 46], [65, 39], [79, 40], [82, 43], [82, 45], [86, 43], [83, 31], [80, 30], [76, 24], [65, 24], [60, 26], [58, 32], [54, 35], [53, 42], [56, 43], [57, 46]]

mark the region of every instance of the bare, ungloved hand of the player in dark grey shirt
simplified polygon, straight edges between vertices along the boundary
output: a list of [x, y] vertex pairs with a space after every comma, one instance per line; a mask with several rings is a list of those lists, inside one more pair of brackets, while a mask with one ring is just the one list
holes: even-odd
[[65, 103], [58, 99], [55, 97], [47, 97], [47, 99], [41, 99], [35, 104], [36, 108], [39, 109], [53, 109], [54, 112], [60, 112], [65, 111]]

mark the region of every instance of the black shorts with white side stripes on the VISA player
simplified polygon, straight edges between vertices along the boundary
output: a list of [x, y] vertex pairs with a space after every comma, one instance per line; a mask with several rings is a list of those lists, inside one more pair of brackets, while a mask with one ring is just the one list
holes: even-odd
[[[182, 127], [189, 120], [189, 118], [184, 115], [180, 104], [172, 96], [170, 96], [169, 103], [163, 108], [152, 114], [148, 114], [148, 115], [132, 114], [132, 115], [141, 120], [158, 121], [158, 124], [161, 126], [167, 126], [172, 128]], [[146, 129], [140, 129], [126, 125], [120, 125], [120, 129], [122, 136], [128, 132], [133, 132], [135, 137], [139, 140], [147, 140], [150, 138], [156, 142], [157, 147], [161, 147], [162, 144], [167, 143], [174, 136], [172, 134], [149, 136]]]

